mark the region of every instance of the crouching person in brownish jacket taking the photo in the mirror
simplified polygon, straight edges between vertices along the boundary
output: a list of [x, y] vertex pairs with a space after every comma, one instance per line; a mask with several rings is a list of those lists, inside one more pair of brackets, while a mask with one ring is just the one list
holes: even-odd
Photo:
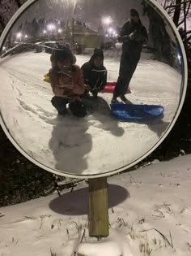
[[59, 115], [66, 115], [69, 103], [73, 115], [85, 116], [87, 111], [80, 98], [85, 90], [83, 73], [79, 66], [72, 64], [72, 52], [66, 46], [59, 46], [53, 50], [51, 61], [49, 80], [55, 95], [51, 101], [53, 106]]

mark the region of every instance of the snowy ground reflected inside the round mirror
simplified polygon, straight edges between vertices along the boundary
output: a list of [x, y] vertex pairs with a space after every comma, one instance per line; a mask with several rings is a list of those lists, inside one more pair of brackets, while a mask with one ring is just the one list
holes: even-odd
[[[57, 116], [50, 103], [49, 54], [15, 54], [0, 61], [0, 108], [15, 141], [33, 158], [57, 170], [92, 175], [124, 167], [140, 158], [159, 140], [171, 123], [180, 97], [181, 76], [158, 61], [141, 59], [130, 84], [131, 102], [159, 104], [163, 119], [145, 124], [120, 122], [109, 115], [111, 93], [87, 101], [89, 115]], [[90, 56], [79, 55], [81, 66]], [[108, 81], [116, 81], [119, 63], [105, 59]], [[105, 143], [106, 142], [106, 143]]]

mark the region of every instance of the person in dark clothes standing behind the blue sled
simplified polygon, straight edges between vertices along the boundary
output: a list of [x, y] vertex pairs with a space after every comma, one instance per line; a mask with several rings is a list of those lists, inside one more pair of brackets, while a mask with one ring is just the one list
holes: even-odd
[[119, 41], [123, 43], [121, 63], [112, 103], [117, 102], [118, 97], [128, 103], [125, 93], [141, 57], [142, 45], [148, 41], [146, 28], [142, 25], [138, 11], [135, 9], [130, 10], [130, 20], [121, 28]]

